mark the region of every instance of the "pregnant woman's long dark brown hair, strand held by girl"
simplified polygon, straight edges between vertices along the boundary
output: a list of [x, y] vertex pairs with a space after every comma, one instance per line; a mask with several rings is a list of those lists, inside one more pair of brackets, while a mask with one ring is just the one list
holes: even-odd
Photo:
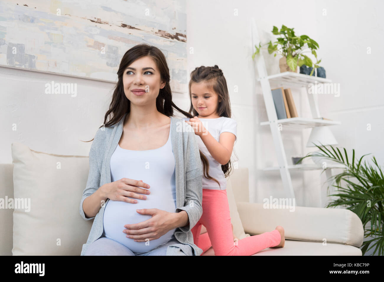
[[[111, 104], [109, 105], [109, 110], [105, 113], [105, 116], [104, 116], [103, 125], [105, 127], [109, 127], [118, 123], [119, 120], [121, 120], [121, 118], [126, 113], [129, 113], [131, 111], [131, 101], [127, 99], [124, 93], [122, 77], [124, 74], [124, 70], [129, 65], [131, 65], [132, 62], [144, 56], [149, 56], [155, 61], [156, 66], [160, 71], [160, 79], [162, 80], [162, 82], [166, 82], [166, 85], [162, 89], [160, 89], [159, 95], [156, 98], [157, 111], [159, 111], [160, 113], [166, 116], [173, 116], [173, 108], [175, 108], [177, 111], [187, 116], [188, 118], [193, 118], [193, 116], [190, 113], [181, 110], [172, 102], [172, 92], [170, 90], [170, 85], [169, 85], [170, 75], [169, 75], [169, 68], [167, 65], [166, 57], [164, 56], [164, 54], [161, 52], [159, 48], [143, 43], [143, 44], [138, 44], [136, 46], [133, 46], [131, 49], [125, 52], [124, 56], [121, 59], [119, 70], [117, 72], [118, 82], [114, 87], [114, 92], [112, 95]], [[109, 120], [107, 121], [108, 116], [109, 116]], [[101, 128], [103, 125], [101, 125], [99, 128]], [[92, 140], [84, 141], [84, 142], [90, 142]], [[213, 177], [211, 177], [208, 173], [209, 162], [207, 160], [207, 157], [205, 157], [205, 155], [200, 150], [199, 152], [200, 152], [200, 159], [203, 164], [204, 176], [209, 179], [216, 180]]]

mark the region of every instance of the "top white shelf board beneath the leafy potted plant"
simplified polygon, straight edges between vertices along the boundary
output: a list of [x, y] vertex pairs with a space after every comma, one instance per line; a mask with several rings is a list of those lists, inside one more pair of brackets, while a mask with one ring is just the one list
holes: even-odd
[[332, 80], [326, 79], [323, 77], [308, 75], [308, 74], [298, 74], [297, 72], [280, 72], [279, 74], [268, 75], [267, 77], [260, 77], [257, 79], [261, 81], [262, 79], [269, 79], [276, 82], [286, 82], [289, 84], [296, 84], [298, 86], [308, 86], [309, 83], [330, 83]]

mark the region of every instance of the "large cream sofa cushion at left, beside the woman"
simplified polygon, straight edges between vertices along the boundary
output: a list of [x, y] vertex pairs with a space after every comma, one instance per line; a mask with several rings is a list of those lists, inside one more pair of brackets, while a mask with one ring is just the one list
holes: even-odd
[[37, 152], [15, 142], [12, 159], [13, 197], [25, 204], [13, 212], [12, 254], [80, 255], [93, 223], [79, 214], [88, 156]]

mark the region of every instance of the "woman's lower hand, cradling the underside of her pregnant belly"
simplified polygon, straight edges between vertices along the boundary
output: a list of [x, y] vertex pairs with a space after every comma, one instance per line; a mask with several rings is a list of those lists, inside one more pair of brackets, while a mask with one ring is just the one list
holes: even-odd
[[175, 227], [177, 221], [176, 213], [170, 213], [158, 208], [143, 208], [137, 210], [141, 215], [152, 215], [146, 221], [134, 224], [126, 224], [123, 232], [127, 233], [129, 238], [135, 239], [136, 242], [145, 242], [146, 239], [155, 240], [166, 234]]

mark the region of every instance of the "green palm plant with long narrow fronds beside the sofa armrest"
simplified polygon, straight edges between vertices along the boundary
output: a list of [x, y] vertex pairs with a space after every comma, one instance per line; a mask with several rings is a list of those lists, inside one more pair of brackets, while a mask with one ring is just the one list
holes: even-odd
[[[312, 142], [313, 143], [313, 142]], [[313, 143], [314, 144], [314, 143]], [[321, 144], [321, 143], [320, 143]], [[316, 145], [316, 144], [314, 144]], [[384, 234], [382, 226], [384, 224], [384, 176], [381, 171], [381, 167], [377, 164], [376, 158], [372, 157], [374, 166], [367, 164], [366, 161], [362, 163], [362, 158], [369, 154], [363, 155], [359, 161], [355, 162], [355, 150], [352, 150], [352, 159], [348, 157], [347, 151], [344, 149], [344, 157], [339, 148], [335, 148], [332, 145], [331, 152], [323, 144], [322, 147], [316, 145], [321, 152], [310, 152], [302, 157], [298, 162], [306, 157], [322, 157], [331, 161], [339, 162], [345, 165], [345, 170], [339, 174], [332, 175], [331, 180], [336, 182], [336, 185], [332, 185], [338, 189], [338, 194], [332, 194], [329, 196], [337, 196], [336, 200], [331, 200], [327, 208], [329, 207], [345, 207], [348, 210], [353, 211], [359, 216], [363, 228], [364, 238], [371, 236], [374, 239], [364, 241], [361, 246], [361, 251], [364, 256], [365, 252], [374, 248], [372, 255], [378, 250], [378, 255], [384, 254]], [[321, 172], [323, 173], [324, 170]], [[351, 180], [355, 180], [354, 182]], [[346, 182], [346, 187], [341, 186], [341, 180]], [[328, 189], [330, 187], [328, 186]], [[366, 228], [367, 223], [370, 222], [371, 227]], [[368, 247], [372, 246], [368, 249]]]

